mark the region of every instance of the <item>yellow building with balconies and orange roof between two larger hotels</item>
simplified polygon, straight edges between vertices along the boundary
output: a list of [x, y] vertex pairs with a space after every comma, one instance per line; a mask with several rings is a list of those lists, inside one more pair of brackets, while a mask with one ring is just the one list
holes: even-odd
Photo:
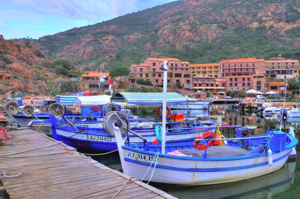
[[190, 71], [192, 75], [217, 77], [220, 72], [220, 64], [190, 64]]

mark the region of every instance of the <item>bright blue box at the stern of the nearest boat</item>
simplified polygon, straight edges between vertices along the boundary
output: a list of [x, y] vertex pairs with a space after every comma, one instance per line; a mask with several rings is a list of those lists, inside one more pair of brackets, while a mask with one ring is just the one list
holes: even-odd
[[270, 138], [269, 147], [272, 152], [280, 152], [285, 150], [286, 133], [274, 131], [273, 136]]

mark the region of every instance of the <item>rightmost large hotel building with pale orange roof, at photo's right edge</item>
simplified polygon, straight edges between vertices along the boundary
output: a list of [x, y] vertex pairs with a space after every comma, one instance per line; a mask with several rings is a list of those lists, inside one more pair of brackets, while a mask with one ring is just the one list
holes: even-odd
[[[267, 77], [275, 77], [278, 79], [291, 79], [300, 74], [298, 60], [274, 60], [265, 61], [265, 70], [261, 71]], [[260, 72], [260, 73], [261, 73]]]

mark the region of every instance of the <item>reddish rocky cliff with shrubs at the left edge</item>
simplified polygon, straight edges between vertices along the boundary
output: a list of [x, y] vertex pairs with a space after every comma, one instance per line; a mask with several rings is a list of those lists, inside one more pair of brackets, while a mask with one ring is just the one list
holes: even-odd
[[30, 43], [27, 46], [19, 43], [14, 40], [6, 41], [0, 35], [0, 93], [45, 94], [45, 79], [51, 74], [42, 70], [41, 63], [49, 63], [51, 60]]

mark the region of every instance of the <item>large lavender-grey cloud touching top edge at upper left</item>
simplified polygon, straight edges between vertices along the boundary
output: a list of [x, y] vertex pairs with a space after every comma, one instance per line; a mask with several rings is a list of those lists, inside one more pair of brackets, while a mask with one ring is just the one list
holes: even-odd
[[[66, 0], [13, 0], [13, 3], [20, 6], [30, 6], [45, 13], [58, 13], [64, 16], [76, 19], [79, 17], [86, 17], [87, 14], [79, 10], [74, 4]], [[87, 16], [95, 19], [95, 16]]]

